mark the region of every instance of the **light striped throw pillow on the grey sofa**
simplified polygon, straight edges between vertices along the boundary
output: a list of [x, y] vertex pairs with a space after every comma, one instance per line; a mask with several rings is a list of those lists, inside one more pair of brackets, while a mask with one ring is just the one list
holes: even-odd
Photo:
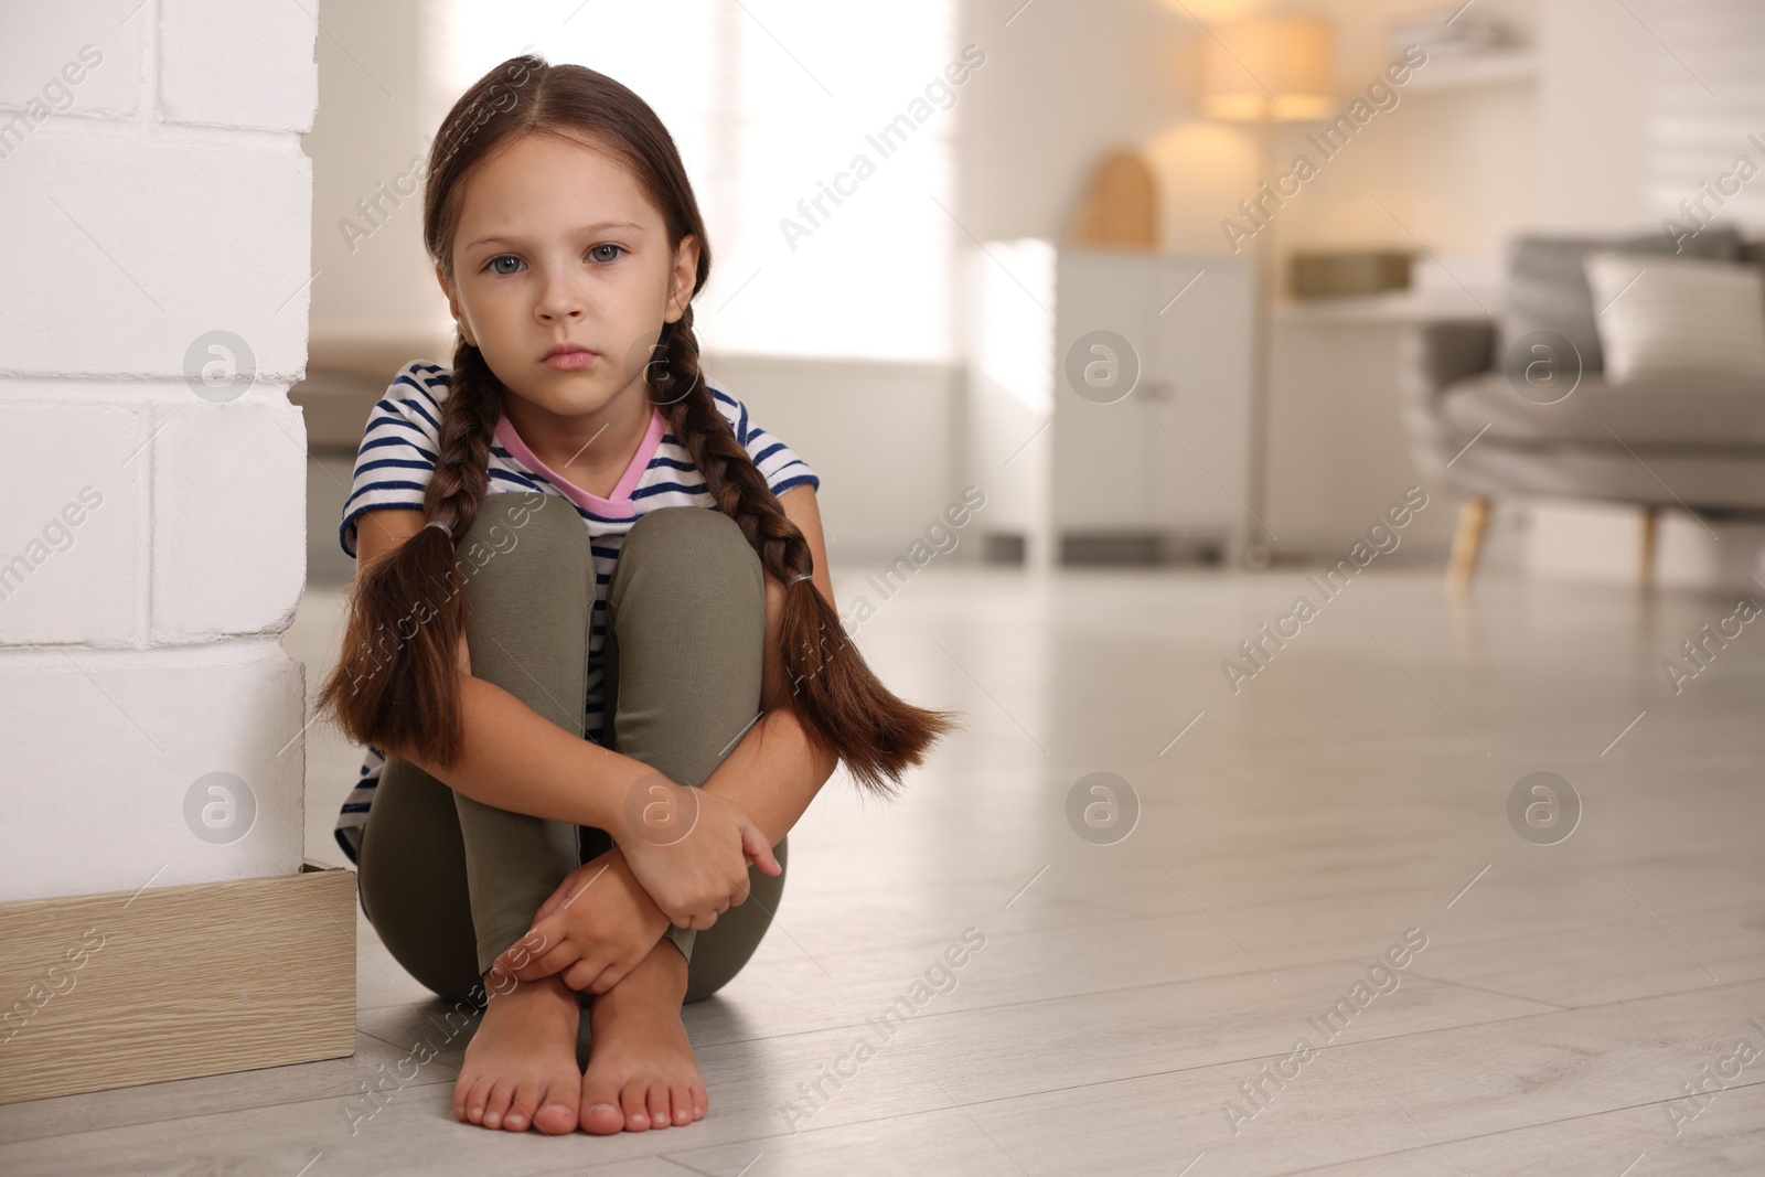
[[1583, 263], [1613, 386], [1673, 378], [1765, 386], [1765, 270], [1603, 249]]

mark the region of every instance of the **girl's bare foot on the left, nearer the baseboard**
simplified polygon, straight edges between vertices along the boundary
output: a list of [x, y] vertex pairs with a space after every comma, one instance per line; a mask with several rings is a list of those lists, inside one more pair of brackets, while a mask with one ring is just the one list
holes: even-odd
[[574, 1133], [582, 1096], [575, 1069], [582, 1001], [556, 976], [519, 981], [512, 990], [510, 979], [484, 979], [491, 1004], [466, 1043], [454, 1119], [515, 1133], [530, 1124], [552, 1136]]

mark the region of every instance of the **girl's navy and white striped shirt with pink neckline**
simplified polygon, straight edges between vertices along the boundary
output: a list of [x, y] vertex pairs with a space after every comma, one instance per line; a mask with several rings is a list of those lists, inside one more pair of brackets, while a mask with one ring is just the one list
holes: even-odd
[[[342, 524], [337, 540], [351, 558], [355, 552], [357, 522], [371, 510], [422, 510], [424, 487], [434, 473], [439, 446], [441, 404], [447, 401], [450, 372], [425, 360], [406, 364], [367, 416], [367, 429], [355, 455], [355, 484], [342, 505]], [[766, 478], [773, 494], [791, 487], [819, 487], [821, 478], [787, 445], [748, 420], [748, 408], [706, 378], [711, 399], [729, 422], [748, 457]], [[660, 506], [708, 506], [717, 501], [704, 485], [704, 476], [692, 462], [692, 454], [669, 431], [662, 409], [650, 409], [650, 431], [637, 446], [625, 476], [611, 498], [590, 494], [572, 485], [545, 462], [515, 432], [508, 415], [499, 415], [496, 436], [491, 441], [487, 494], [512, 491], [538, 491], [568, 499], [590, 535], [590, 552], [595, 561], [595, 605], [590, 614], [588, 639], [588, 697], [584, 699], [582, 731], [595, 743], [604, 734], [600, 651], [607, 633], [607, 586], [625, 544], [625, 533], [644, 512]], [[362, 829], [374, 803], [374, 787], [387, 764], [385, 753], [369, 745], [355, 789], [337, 815], [337, 845], [349, 861], [357, 861], [362, 847]]]

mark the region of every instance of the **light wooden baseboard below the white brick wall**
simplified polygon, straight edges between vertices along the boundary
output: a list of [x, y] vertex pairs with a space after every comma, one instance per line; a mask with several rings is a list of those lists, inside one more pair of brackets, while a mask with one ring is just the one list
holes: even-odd
[[355, 872], [0, 903], [0, 1103], [355, 1053]]

